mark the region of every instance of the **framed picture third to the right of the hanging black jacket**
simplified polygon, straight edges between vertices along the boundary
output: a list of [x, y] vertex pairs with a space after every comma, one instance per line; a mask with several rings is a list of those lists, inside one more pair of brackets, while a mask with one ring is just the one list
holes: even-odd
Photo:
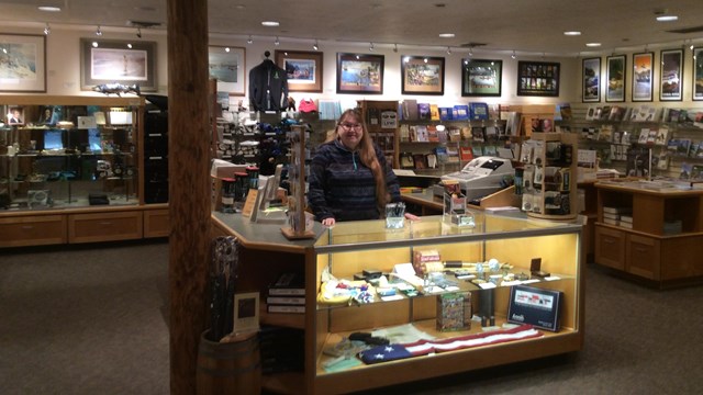
[[401, 94], [444, 94], [444, 57], [401, 56]]

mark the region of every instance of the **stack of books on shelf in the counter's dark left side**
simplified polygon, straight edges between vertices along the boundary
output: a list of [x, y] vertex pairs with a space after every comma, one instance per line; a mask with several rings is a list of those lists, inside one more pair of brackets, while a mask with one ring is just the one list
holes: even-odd
[[302, 273], [283, 273], [268, 287], [268, 313], [305, 313], [305, 280]]

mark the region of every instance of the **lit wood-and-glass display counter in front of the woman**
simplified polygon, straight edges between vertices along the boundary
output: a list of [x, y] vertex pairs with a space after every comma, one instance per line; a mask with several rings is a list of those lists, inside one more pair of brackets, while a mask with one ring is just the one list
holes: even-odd
[[[213, 236], [231, 235], [239, 240], [237, 292], [260, 293], [260, 324], [304, 332], [300, 369], [264, 374], [264, 387], [291, 394], [349, 393], [580, 350], [583, 347], [582, 227], [528, 218], [522, 213], [494, 215], [475, 211], [472, 214], [475, 227], [447, 224], [443, 216], [406, 222], [400, 229], [387, 229], [384, 221], [337, 223], [331, 228], [315, 223], [313, 239], [288, 240], [281, 234], [280, 224], [254, 224], [239, 214], [213, 213]], [[364, 272], [394, 278], [389, 273], [408, 268], [417, 253], [427, 251], [436, 252], [442, 261], [471, 267], [479, 278], [486, 274], [487, 279], [488, 267], [486, 273], [476, 270], [494, 259], [500, 262], [500, 269], [491, 274], [501, 279], [495, 286], [488, 287], [476, 279], [457, 280], [456, 272], [448, 271], [423, 274], [420, 293], [399, 293], [394, 298], [372, 294], [362, 302], [355, 298], [339, 304], [328, 303], [320, 295], [323, 285], [328, 284], [323, 274], [324, 279], [332, 275], [337, 280], [350, 280]], [[542, 270], [549, 276], [533, 275], [526, 280], [534, 269], [532, 259], [537, 257], [542, 259]], [[298, 272], [304, 278], [303, 314], [267, 313], [268, 287], [286, 272]], [[442, 275], [450, 276], [457, 287], [437, 285], [436, 278]], [[365, 363], [354, 356], [339, 360], [330, 352], [354, 332], [384, 328], [391, 331], [412, 328], [411, 331], [427, 334], [435, 340], [480, 337], [487, 329], [505, 330], [502, 326], [507, 323], [511, 291], [516, 284], [525, 285], [525, 282], [504, 280], [512, 276], [525, 280], [531, 287], [561, 295], [560, 308], [556, 309], [557, 330], [531, 328], [534, 337], [382, 363]], [[427, 283], [431, 278], [432, 284]], [[487, 291], [491, 298], [486, 296]], [[492, 306], [492, 326], [472, 320], [469, 327], [459, 330], [438, 328], [440, 315], [446, 318], [437, 311], [438, 301], [457, 293], [470, 301], [475, 313], [483, 311], [487, 304]]]

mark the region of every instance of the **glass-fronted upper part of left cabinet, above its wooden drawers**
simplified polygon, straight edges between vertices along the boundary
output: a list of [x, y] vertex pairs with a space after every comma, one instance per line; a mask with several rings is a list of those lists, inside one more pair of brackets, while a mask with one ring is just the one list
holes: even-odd
[[0, 208], [138, 205], [143, 105], [141, 98], [2, 97]]

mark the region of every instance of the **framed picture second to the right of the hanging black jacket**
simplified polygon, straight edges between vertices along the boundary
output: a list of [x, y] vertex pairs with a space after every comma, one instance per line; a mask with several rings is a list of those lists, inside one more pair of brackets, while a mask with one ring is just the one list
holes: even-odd
[[337, 53], [337, 93], [383, 94], [383, 55]]

